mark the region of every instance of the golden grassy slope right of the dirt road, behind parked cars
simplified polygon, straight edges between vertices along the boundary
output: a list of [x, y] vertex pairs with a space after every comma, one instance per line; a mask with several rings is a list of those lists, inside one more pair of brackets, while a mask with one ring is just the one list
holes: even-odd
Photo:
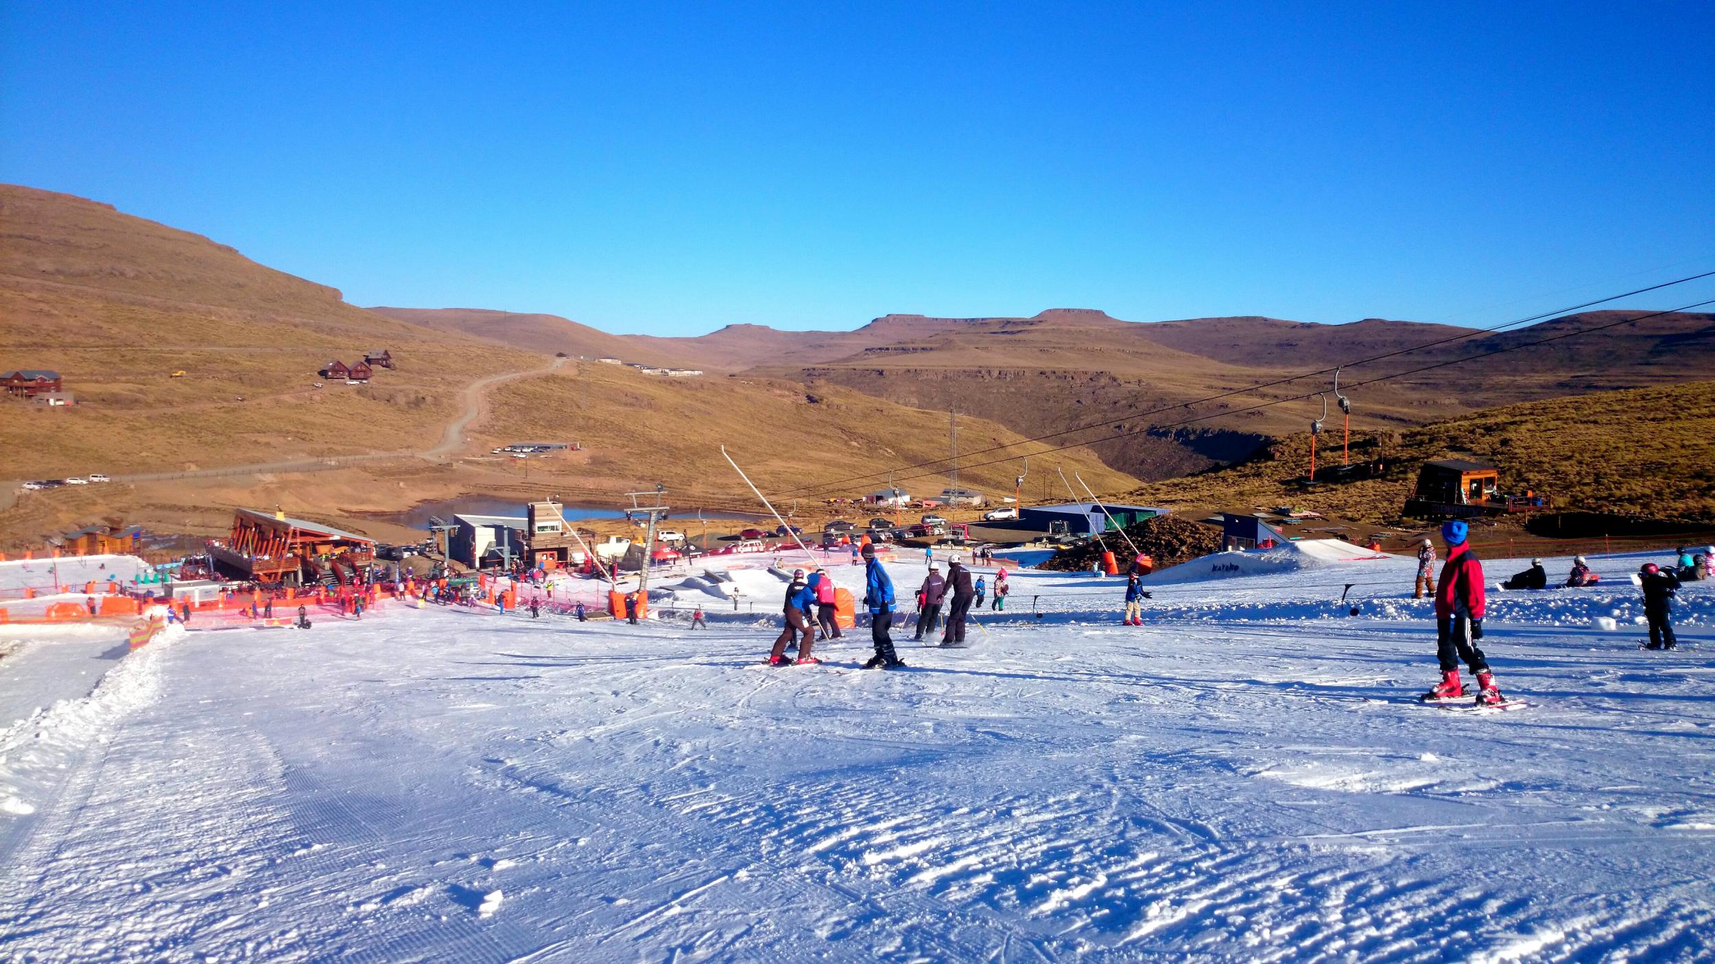
[[[473, 436], [492, 446], [527, 439], [576, 439], [592, 448], [569, 473], [580, 482], [624, 485], [667, 482], [681, 492], [731, 494], [751, 506], [744, 484], [720, 458], [725, 444], [751, 479], [770, 494], [833, 479], [887, 470], [947, 456], [947, 417], [906, 408], [856, 391], [828, 388], [809, 401], [791, 381], [705, 376], [664, 379], [616, 365], [585, 365], [520, 379], [497, 389]], [[993, 422], [960, 419], [960, 448], [979, 449], [1019, 441]], [[1128, 487], [1135, 479], [1106, 468], [1089, 451], [1055, 453], [1067, 473], [1082, 472], [1091, 485]], [[551, 470], [552, 463], [542, 463]], [[1017, 463], [960, 473], [960, 484], [991, 496], [1012, 489]], [[887, 479], [851, 484], [839, 494], [863, 496]], [[943, 475], [900, 479], [899, 487], [923, 496], [940, 492]], [[811, 499], [804, 499], [806, 503]]]

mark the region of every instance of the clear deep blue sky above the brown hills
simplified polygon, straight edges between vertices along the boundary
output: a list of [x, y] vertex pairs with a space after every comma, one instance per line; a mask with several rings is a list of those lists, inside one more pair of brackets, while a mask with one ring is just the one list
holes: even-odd
[[1708, 0], [0, 17], [0, 180], [362, 305], [1490, 324], [1715, 269]]

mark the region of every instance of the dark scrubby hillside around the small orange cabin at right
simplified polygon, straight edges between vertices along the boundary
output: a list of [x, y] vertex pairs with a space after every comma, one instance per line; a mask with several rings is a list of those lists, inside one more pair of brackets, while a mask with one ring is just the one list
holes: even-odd
[[[1288, 436], [1269, 456], [1188, 479], [1152, 482], [1130, 496], [1183, 511], [1250, 511], [1291, 504], [1357, 521], [1399, 518], [1430, 458], [1477, 458], [1501, 467], [1501, 485], [1547, 494], [1557, 509], [1715, 521], [1715, 381], [1602, 391], [1576, 398], [1485, 408], [1405, 432], [1353, 434], [1358, 456], [1386, 458], [1387, 473], [1302, 492], [1309, 432]], [[1322, 465], [1339, 460], [1338, 434], [1319, 444]]]

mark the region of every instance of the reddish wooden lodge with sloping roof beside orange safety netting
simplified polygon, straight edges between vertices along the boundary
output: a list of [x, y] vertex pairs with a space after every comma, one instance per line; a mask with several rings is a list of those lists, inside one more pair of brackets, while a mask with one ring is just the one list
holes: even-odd
[[211, 542], [214, 566], [228, 576], [288, 587], [352, 583], [376, 561], [376, 542], [326, 523], [281, 511], [237, 509], [232, 535]]

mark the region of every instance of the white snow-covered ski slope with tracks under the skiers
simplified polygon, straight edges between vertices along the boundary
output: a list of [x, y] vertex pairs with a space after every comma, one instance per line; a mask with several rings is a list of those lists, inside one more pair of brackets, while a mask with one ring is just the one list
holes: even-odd
[[1411, 561], [1324, 563], [1154, 587], [1144, 628], [1120, 580], [1015, 573], [902, 672], [852, 669], [866, 630], [765, 669], [777, 621], [719, 606], [192, 631], [0, 732], [0, 957], [1706, 957], [1715, 664], [1636, 648], [1638, 559], [1494, 597], [1535, 705], [1489, 715], [1411, 702]]

